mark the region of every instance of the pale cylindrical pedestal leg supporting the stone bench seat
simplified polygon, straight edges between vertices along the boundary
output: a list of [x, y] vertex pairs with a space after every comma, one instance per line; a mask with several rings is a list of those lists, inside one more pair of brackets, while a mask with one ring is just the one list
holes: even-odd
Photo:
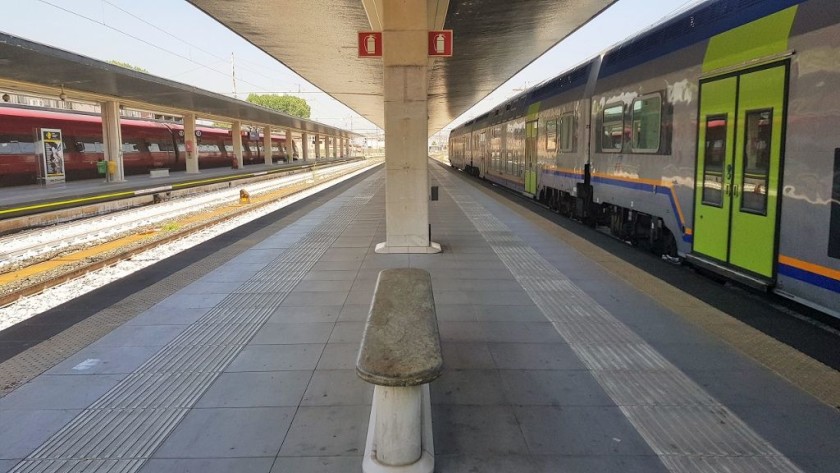
[[428, 384], [374, 387], [362, 471], [434, 471], [432, 410]]

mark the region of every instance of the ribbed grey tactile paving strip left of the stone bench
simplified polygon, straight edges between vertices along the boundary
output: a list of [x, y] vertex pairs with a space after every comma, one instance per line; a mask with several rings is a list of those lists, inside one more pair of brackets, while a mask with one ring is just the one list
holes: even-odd
[[[11, 471], [134, 472], [382, 186], [382, 173]], [[283, 278], [276, 278], [283, 275]]]

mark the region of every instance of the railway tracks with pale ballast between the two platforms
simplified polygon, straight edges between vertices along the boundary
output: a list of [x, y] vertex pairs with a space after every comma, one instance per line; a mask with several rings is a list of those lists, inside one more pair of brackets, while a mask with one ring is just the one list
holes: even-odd
[[[0, 248], [5, 250], [0, 253], [4, 263], [7, 268], [13, 266], [13, 269], [0, 273], [0, 307], [258, 211], [375, 163], [368, 160], [317, 168], [276, 181], [250, 184], [247, 186], [249, 202], [240, 201], [239, 189], [232, 188], [227, 192], [214, 192], [212, 196], [201, 196], [195, 200], [184, 199], [184, 202], [151, 214], [126, 211], [126, 215], [119, 218], [118, 222], [107, 222], [93, 230], [84, 230], [83, 225], [77, 223], [71, 227], [78, 228], [69, 231], [75, 242], [60, 250], [51, 248], [57, 245], [56, 238], [34, 238], [34, 235], [21, 238], [21, 235], [15, 235], [0, 239]], [[46, 233], [49, 231], [41, 230]], [[65, 236], [61, 238], [66, 239]], [[29, 240], [29, 243], [23, 243], [22, 240]], [[28, 255], [28, 259], [25, 255]], [[19, 258], [16, 264], [8, 263], [15, 257]]]

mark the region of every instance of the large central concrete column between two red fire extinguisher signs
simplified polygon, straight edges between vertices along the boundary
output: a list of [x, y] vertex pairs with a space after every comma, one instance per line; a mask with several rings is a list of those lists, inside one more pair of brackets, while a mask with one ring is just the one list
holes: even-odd
[[429, 240], [426, 2], [384, 0], [385, 241], [377, 253], [438, 253]]

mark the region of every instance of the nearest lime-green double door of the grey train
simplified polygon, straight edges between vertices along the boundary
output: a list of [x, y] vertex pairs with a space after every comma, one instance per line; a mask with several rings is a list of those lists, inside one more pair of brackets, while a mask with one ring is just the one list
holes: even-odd
[[787, 66], [700, 84], [693, 251], [767, 279], [776, 256]]

